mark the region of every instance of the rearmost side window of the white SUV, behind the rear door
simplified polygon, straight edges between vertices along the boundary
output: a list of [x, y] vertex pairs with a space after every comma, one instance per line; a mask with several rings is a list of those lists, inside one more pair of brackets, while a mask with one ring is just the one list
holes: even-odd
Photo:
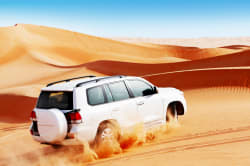
[[98, 105], [105, 103], [105, 98], [101, 86], [88, 89], [87, 96], [88, 96], [88, 103], [90, 105]]

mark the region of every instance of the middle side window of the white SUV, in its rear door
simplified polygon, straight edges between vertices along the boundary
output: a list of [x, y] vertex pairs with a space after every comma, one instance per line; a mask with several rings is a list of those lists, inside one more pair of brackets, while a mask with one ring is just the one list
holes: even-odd
[[129, 98], [127, 87], [123, 81], [109, 84], [114, 101], [120, 101]]

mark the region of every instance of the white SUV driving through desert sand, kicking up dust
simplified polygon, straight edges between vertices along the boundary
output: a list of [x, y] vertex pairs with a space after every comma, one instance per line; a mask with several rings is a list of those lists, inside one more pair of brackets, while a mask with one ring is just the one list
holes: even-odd
[[[31, 112], [36, 141], [58, 143], [80, 136], [88, 142], [122, 136], [123, 129], [143, 123], [165, 124], [186, 112], [183, 92], [158, 88], [131, 76], [84, 76], [43, 88]], [[119, 133], [114, 128], [119, 128]]]

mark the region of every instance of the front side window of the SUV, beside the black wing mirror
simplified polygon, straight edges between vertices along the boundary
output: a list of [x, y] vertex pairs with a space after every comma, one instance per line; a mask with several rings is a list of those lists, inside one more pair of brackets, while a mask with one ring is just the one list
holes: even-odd
[[153, 94], [153, 88], [143, 81], [127, 80], [127, 83], [135, 97]]

